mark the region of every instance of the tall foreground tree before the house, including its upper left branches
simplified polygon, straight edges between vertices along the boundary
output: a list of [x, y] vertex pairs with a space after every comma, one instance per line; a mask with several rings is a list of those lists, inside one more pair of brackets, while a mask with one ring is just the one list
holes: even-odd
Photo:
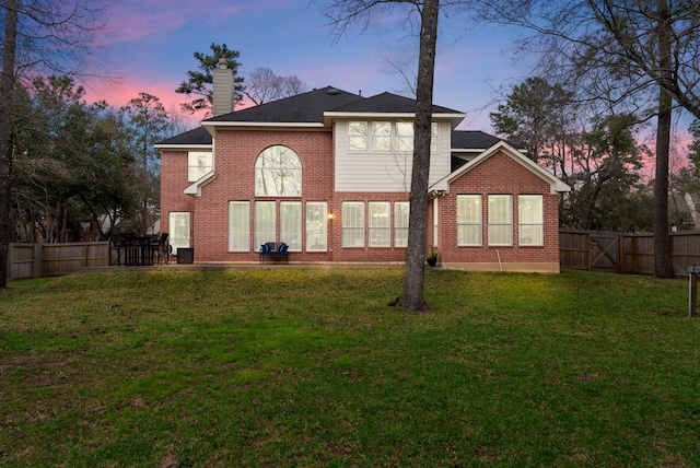
[[430, 138], [438, 44], [440, 0], [336, 0], [326, 9], [338, 36], [353, 22], [370, 23], [374, 10], [387, 10], [408, 4], [420, 14], [420, 47], [416, 85], [416, 118], [413, 121], [413, 162], [410, 187], [408, 247], [401, 305], [405, 312], [428, 308], [423, 295], [425, 272], [425, 234], [428, 224], [428, 180], [430, 172]]

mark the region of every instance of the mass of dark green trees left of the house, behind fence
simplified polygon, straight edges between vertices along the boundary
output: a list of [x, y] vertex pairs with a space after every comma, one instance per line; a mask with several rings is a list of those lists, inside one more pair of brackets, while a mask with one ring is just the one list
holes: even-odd
[[67, 242], [81, 221], [101, 237], [125, 220], [145, 233], [158, 215], [160, 153], [174, 128], [158, 97], [140, 93], [120, 109], [88, 104], [69, 77], [20, 89], [13, 207], [20, 238]]

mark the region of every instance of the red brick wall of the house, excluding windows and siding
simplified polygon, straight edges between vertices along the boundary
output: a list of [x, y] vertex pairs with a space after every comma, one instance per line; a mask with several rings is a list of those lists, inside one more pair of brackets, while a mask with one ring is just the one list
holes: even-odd
[[[256, 197], [255, 162], [265, 149], [281, 144], [296, 152], [302, 162], [301, 197]], [[408, 200], [408, 194], [382, 192], [334, 192], [334, 136], [330, 131], [279, 131], [245, 130], [219, 131], [214, 144], [215, 178], [201, 189], [200, 198], [184, 195], [187, 182], [187, 153], [163, 153], [161, 176], [161, 203], [163, 232], [167, 232], [167, 213], [192, 212], [192, 246], [196, 261], [257, 261], [254, 237], [250, 234], [252, 251], [228, 251], [229, 201], [250, 201], [250, 230], [254, 229], [254, 202], [276, 201], [277, 232], [279, 233], [279, 202], [302, 202], [302, 233], [306, 201], [327, 201], [332, 219], [328, 220], [328, 251], [291, 253], [291, 261], [405, 261], [406, 248], [376, 248], [368, 246], [366, 213], [369, 201], [392, 202]], [[503, 153], [497, 153], [479, 166], [454, 182], [450, 194], [439, 199], [439, 238], [432, 238], [432, 201], [428, 209], [427, 246], [439, 245], [441, 262], [494, 262], [498, 249], [504, 262], [557, 262], [559, 261], [558, 196], [550, 195], [547, 182], [533, 174]], [[456, 196], [458, 194], [482, 195], [483, 246], [457, 247]], [[487, 201], [489, 194], [513, 195], [513, 246], [489, 247], [487, 237]], [[545, 245], [530, 247], [517, 245], [517, 195], [542, 194], [545, 210]], [[365, 246], [342, 248], [342, 201], [365, 203]]]

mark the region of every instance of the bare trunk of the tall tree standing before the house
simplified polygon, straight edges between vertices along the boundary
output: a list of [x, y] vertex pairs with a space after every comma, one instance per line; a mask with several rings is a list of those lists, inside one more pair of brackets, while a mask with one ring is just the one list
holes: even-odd
[[427, 308], [423, 299], [425, 272], [425, 231], [428, 224], [428, 177], [430, 173], [430, 136], [435, 74], [435, 45], [440, 0], [425, 0], [421, 11], [418, 84], [416, 87], [416, 120], [413, 121], [413, 166], [411, 201], [404, 280], [404, 312]]

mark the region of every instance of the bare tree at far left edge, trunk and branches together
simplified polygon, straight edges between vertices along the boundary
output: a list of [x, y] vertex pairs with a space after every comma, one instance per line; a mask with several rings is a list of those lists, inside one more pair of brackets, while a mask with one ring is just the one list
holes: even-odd
[[7, 288], [8, 248], [12, 239], [12, 156], [19, 80], [51, 71], [71, 74], [85, 65], [102, 10], [85, 0], [4, 0], [2, 77], [0, 78], [0, 289]]

